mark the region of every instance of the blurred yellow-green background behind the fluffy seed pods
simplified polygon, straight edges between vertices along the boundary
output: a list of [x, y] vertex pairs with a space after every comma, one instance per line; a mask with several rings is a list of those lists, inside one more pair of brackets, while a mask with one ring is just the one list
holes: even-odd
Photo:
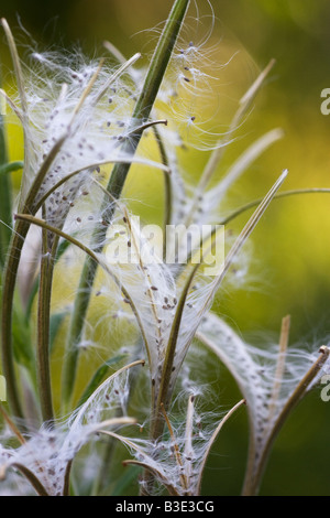
[[[210, 14], [207, 1], [197, 3], [200, 14]], [[95, 55], [96, 47], [100, 50], [107, 39], [130, 56], [152, 50], [154, 34], [145, 30], [164, 21], [170, 6], [170, 0], [2, 0], [0, 14], [20, 34], [21, 19], [40, 48], [78, 42]], [[285, 131], [285, 138], [266, 151], [234, 186], [227, 208], [265, 194], [286, 168], [289, 176], [285, 188], [330, 187], [330, 116], [320, 111], [321, 90], [330, 88], [329, 0], [213, 0], [212, 6], [218, 19], [209, 42], [217, 44], [213, 55], [219, 52], [222, 62], [223, 56], [240, 51], [232, 66], [217, 72], [224, 105], [227, 100], [231, 104], [232, 98], [238, 100], [257, 69], [276, 58], [254, 110], [240, 130], [240, 139], [226, 153], [223, 166], [263, 132], [275, 127]], [[191, 9], [191, 13], [195, 15], [196, 10]], [[187, 30], [186, 37], [193, 40], [194, 32], [189, 35]], [[22, 41], [24, 55], [23, 36]], [[4, 36], [1, 58], [9, 67]], [[226, 110], [227, 105], [219, 109], [219, 116]], [[19, 145], [13, 144], [13, 154], [22, 152]], [[196, 153], [194, 161], [186, 160], [190, 174], [197, 177], [207, 152]], [[147, 185], [148, 193], [153, 188], [156, 186]], [[157, 206], [161, 194], [154, 199]], [[277, 339], [280, 320], [289, 313], [293, 344], [318, 347], [321, 342], [327, 343], [329, 209], [327, 194], [276, 201], [254, 231], [248, 284], [234, 288], [233, 283], [226, 283], [217, 301], [217, 310], [251, 342]], [[246, 217], [248, 214], [240, 217], [233, 228], [242, 227]], [[217, 384], [220, 387], [219, 404], [228, 408], [240, 398], [237, 388], [224, 369], [216, 369], [211, 363], [209, 369], [215, 387]], [[283, 429], [264, 477], [263, 495], [330, 495], [330, 403], [322, 402], [319, 393], [316, 389]], [[207, 470], [205, 494], [239, 494], [246, 453], [245, 432], [242, 410], [219, 438]]]

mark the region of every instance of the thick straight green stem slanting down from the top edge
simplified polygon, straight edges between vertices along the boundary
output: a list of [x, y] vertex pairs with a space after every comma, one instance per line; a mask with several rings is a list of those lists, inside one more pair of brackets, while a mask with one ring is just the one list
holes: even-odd
[[[185, 18], [188, 4], [189, 0], [176, 0], [173, 6], [173, 9], [168, 15], [167, 22], [154, 52], [153, 58], [151, 61], [144, 86], [142, 88], [142, 93], [135, 105], [134, 112], [132, 116], [133, 123], [135, 123], [136, 120], [144, 123], [150, 117], [169, 58], [172, 56], [172, 52], [176, 43], [177, 35]], [[133, 131], [131, 134], [131, 139], [124, 142], [123, 151], [133, 155], [138, 149], [142, 134], [143, 130], [136, 130], [135, 132]], [[116, 164], [112, 170], [107, 190], [116, 199], [120, 198], [121, 196], [121, 192], [123, 190], [130, 166], [130, 163], [121, 163]], [[108, 224], [110, 224], [112, 220], [114, 208], [114, 204], [112, 204], [110, 207], [108, 206], [108, 208], [106, 208], [103, 212], [103, 220]], [[106, 227], [105, 229], [96, 233], [96, 241], [102, 242], [106, 237]], [[100, 246], [98, 247], [97, 251], [101, 251]], [[86, 258], [80, 277], [79, 290], [74, 304], [72, 324], [67, 336], [66, 361], [64, 366], [63, 377], [63, 403], [65, 408], [69, 407], [70, 399], [73, 396], [78, 361], [78, 349], [76, 347], [76, 344], [79, 343], [79, 339], [82, 334], [84, 322], [89, 305], [91, 287], [96, 276], [96, 270], [97, 265], [95, 265], [90, 258]]]

